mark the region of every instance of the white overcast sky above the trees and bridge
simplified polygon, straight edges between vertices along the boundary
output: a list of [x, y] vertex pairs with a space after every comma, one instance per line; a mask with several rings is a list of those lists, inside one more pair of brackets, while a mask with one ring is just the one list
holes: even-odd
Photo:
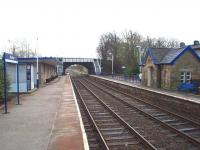
[[96, 57], [100, 35], [200, 40], [199, 0], [1, 0], [0, 50], [27, 39], [43, 56]]

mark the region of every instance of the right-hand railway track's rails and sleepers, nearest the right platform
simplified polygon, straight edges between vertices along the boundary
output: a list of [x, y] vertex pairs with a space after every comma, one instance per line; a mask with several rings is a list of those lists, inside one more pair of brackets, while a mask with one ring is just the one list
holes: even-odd
[[[134, 107], [135, 109], [147, 115], [151, 119], [158, 121], [164, 126], [171, 128], [175, 132], [185, 136], [191, 142], [200, 145], [200, 124], [186, 119], [180, 115], [171, 113], [155, 105], [149, 104], [146, 101], [143, 101], [142, 99], [134, 97], [133, 95], [124, 93], [102, 83], [101, 85], [103, 85], [103, 88], [97, 85], [96, 86], [104, 92], [111, 94], [118, 100], [121, 100], [128, 106]], [[105, 89], [105, 87], [107, 89]], [[110, 89], [110, 91], [108, 91], [108, 89]], [[114, 91], [117, 95], [114, 94]], [[123, 96], [123, 99], [119, 98], [121, 96]]]

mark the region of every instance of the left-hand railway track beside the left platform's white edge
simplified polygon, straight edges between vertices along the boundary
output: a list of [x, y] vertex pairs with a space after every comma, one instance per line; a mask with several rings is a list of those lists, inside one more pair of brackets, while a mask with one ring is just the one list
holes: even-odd
[[90, 149], [156, 149], [79, 80], [73, 80]]

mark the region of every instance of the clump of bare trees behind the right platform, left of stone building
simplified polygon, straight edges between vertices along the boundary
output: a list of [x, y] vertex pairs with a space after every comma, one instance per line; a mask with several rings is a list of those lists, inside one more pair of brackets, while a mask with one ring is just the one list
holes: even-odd
[[[141, 49], [138, 49], [140, 46]], [[114, 57], [114, 72], [122, 73], [122, 66], [126, 66], [125, 72], [128, 74], [139, 71], [139, 50], [146, 51], [148, 47], [153, 48], [177, 48], [178, 40], [165, 38], [143, 37], [132, 30], [124, 31], [121, 36], [116, 32], [109, 32], [100, 37], [97, 53], [102, 58], [104, 72], [111, 71], [110, 53]]]

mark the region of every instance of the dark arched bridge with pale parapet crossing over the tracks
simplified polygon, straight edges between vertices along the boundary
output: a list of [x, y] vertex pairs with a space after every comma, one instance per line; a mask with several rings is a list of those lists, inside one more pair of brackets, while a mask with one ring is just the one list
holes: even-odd
[[96, 58], [62, 58], [63, 72], [71, 65], [82, 65], [88, 69], [89, 74], [100, 74], [101, 66]]

